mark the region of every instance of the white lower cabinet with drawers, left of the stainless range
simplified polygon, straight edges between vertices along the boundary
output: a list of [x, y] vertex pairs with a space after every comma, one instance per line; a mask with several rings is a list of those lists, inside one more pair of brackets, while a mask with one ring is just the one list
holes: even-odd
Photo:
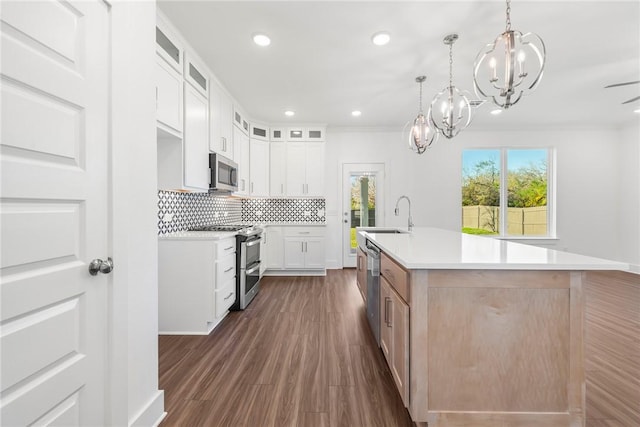
[[235, 302], [235, 237], [160, 239], [158, 329], [161, 335], [206, 335]]

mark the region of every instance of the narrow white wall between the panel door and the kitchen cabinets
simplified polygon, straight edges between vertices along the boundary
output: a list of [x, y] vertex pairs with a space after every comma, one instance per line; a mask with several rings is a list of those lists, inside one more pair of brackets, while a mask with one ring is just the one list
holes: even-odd
[[[158, 390], [155, 2], [114, 2], [109, 425], [150, 426]], [[107, 195], [105, 195], [107, 197]]]

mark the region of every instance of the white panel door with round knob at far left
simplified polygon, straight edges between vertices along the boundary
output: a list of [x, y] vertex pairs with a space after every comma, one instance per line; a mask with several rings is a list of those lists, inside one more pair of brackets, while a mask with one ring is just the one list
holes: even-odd
[[2, 2], [2, 425], [105, 425], [108, 15]]

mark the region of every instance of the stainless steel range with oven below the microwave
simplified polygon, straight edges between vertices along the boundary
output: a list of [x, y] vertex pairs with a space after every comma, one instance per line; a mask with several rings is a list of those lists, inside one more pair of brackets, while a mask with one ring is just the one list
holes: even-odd
[[236, 302], [231, 310], [244, 310], [260, 290], [262, 228], [253, 225], [205, 225], [191, 231], [236, 232]]

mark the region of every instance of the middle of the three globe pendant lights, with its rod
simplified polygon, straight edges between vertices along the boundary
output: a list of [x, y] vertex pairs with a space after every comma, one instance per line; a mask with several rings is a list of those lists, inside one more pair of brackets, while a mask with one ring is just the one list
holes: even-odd
[[469, 99], [464, 91], [453, 85], [453, 44], [456, 40], [457, 34], [449, 34], [443, 40], [449, 46], [449, 86], [433, 98], [429, 109], [431, 123], [448, 139], [456, 136], [471, 122]]

